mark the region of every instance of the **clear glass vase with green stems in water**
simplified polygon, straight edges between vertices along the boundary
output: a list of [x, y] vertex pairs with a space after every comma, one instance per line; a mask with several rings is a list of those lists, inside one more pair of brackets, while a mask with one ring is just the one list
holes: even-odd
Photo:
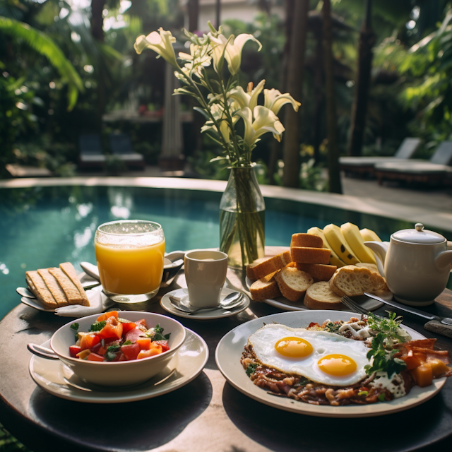
[[254, 167], [231, 168], [220, 201], [220, 251], [240, 268], [264, 256], [265, 202]]

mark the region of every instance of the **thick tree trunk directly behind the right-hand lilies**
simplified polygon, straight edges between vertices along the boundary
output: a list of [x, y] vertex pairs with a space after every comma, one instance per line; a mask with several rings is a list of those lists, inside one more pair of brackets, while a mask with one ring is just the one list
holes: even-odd
[[[309, 0], [295, 1], [292, 14], [289, 61], [287, 66], [287, 91], [295, 100], [302, 102], [304, 54], [306, 50], [307, 18]], [[299, 117], [292, 108], [285, 112], [284, 186], [299, 186]]]

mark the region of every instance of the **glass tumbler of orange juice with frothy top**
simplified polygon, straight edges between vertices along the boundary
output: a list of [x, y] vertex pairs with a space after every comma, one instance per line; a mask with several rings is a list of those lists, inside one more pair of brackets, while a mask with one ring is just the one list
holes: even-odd
[[94, 239], [100, 283], [120, 303], [140, 303], [160, 287], [165, 255], [162, 226], [145, 220], [117, 220], [97, 227]]

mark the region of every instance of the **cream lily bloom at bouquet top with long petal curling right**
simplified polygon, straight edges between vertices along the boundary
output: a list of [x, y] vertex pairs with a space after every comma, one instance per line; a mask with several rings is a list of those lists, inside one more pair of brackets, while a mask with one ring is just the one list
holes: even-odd
[[242, 33], [242, 35], [238, 35], [237, 37], [231, 35], [229, 40], [227, 40], [225, 35], [222, 34], [215, 37], [212, 33], [209, 33], [208, 37], [210, 38], [210, 44], [213, 48], [213, 65], [215, 71], [218, 73], [222, 70], [223, 52], [224, 58], [227, 61], [227, 69], [229, 69], [230, 73], [234, 75], [240, 70], [240, 64], [242, 63], [242, 50], [247, 41], [253, 40], [254, 42], [257, 42], [259, 44], [258, 51], [262, 48], [261, 42], [258, 42], [253, 35], [247, 35], [246, 33]]

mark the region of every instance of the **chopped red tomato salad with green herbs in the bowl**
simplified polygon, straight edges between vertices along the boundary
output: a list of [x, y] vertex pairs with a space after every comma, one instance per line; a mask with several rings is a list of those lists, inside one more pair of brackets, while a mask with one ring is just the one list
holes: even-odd
[[[71, 328], [77, 331], [78, 323], [73, 323]], [[171, 333], [162, 333], [159, 324], [148, 328], [144, 319], [131, 322], [121, 319], [117, 311], [106, 312], [88, 332], [76, 334], [76, 345], [69, 347], [69, 354], [72, 358], [98, 362], [148, 358], [169, 350]]]

